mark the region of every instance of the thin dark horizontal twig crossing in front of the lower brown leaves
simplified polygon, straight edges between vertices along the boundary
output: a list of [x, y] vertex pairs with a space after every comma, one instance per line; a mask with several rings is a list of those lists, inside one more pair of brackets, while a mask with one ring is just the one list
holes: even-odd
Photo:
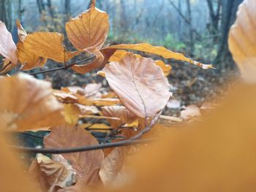
[[77, 153], [77, 152], [89, 151], [89, 150], [102, 150], [104, 148], [121, 147], [121, 146], [127, 146], [127, 145], [146, 144], [148, 142], [154, 142], [155, 140], [156, 139], [125, 140], [121, 142], [112, 142], [112, 143], [105, 143], [105, 144], [99, 144], [99, 145], [72, 147], [72, 148], [65, 148], [65, 149], [55, 149], [55, 148], [40, 149], [40, 148], [33, 148], [33, 147], [15, 147], [15, 146], [12, 146], [12, 148], [25, 153], [61, 154], [61, 153]]

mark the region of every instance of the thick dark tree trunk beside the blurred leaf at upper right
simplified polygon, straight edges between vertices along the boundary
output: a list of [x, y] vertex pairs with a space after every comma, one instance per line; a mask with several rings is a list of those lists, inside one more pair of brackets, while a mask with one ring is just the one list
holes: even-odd
[[[223, 69], [225, 67], [223, 61], [230, 61], [230, 52], [227, 47], [227, 38], [230, 26], [236, 20], [236, 12], [238, 5], [241, 4], [243, 0], [222, 0], [222, 20], [221, 20], [221, 33], [222, 38], [219, 42], [219, 50], [217, 58], [214, 61], [214, 64], [217, 64], [218, 69]], [[231, 62], [230, 62], [231, 63]]]

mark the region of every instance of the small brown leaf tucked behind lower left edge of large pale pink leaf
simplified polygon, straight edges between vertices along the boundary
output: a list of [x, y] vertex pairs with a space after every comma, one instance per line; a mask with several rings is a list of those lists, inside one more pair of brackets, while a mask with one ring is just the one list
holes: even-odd
[[124, 123], [132, 123], [137, 119], [136, 115], [123, 106], [105, 106], [102, 107], [102, 114], [107, 117], [120, 118], [120, 120], [108, 119], [110, 126], [119, 128]]

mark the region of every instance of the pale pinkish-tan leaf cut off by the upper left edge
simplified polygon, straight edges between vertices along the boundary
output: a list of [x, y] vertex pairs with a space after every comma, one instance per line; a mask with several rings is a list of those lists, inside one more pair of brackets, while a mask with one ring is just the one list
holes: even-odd
[[18, 64], [16, 55], [17, 47], [12, 40], [12, 34], [7, 30], [5, 24], [0, 20], [0, 55], [7, 58], [12, 64]]

